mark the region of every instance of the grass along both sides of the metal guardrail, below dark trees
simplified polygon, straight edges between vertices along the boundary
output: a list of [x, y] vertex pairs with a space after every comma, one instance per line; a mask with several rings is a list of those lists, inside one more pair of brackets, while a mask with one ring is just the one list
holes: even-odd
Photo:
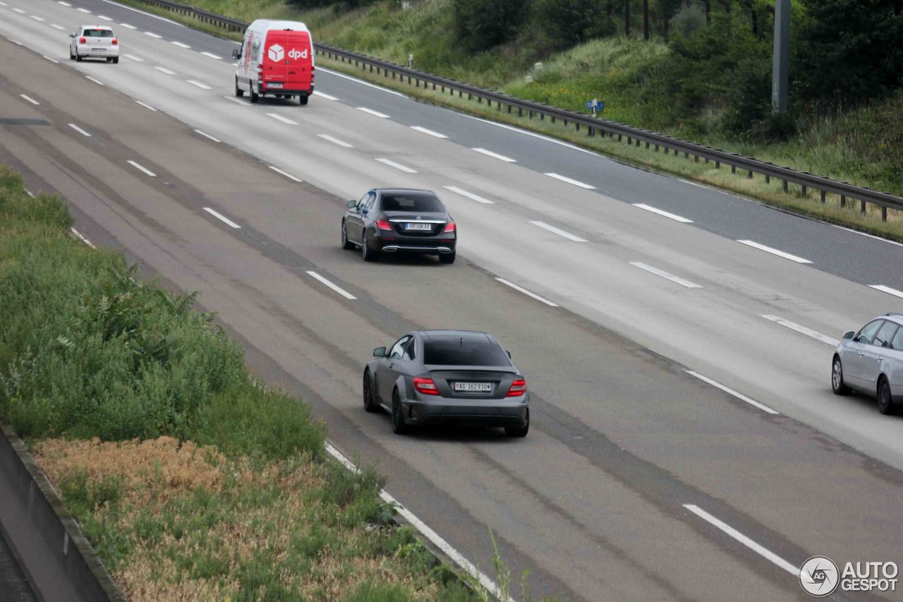
[[[146, 6], [140, 0], [127, 1]], [[398, 63], [406, 62], [408, 53], [414, 52], [414, 64], [425, 71], [554, 106], [580, 111], [586, 99], [605, 99], [608, 107], [605, 117], [621, 123], [655, 128], [672, 136], [696, 138], [703, 144], [755, 156], [777, 165], [903, 194], [903, 180], [899, 179], [903, 176], [894, 165], [896, 156], [892, 152], [903, 136], [900, 130], [903, 118], [899, 113], [903, 107], [903, 94], [871, 107], [813, 118], [801, 127], [800, 134], [786, 142], [757, 144], [719, 136], [706, 126], [706, 123], [711, 125], [718, 121], [714, 114], [686, 122], [662, 120], [666, 111], [650, 105], [645, 91], [649, 81], [656, 77], [656, 65], [668, 52], [660, 41], [611, 37], [592, 40], [559, 53], [544, 53], [542, 48], [521, 44], [470, 55], [463, 52], [452, 37], [450, 4], [445, 0], [428, 0], [410, 10], [401, 10], [397, 3], [386, 1], [355, 11], [341, 11], [336, 7], [299, 11], [282, 0], [261, 0], [255, 5], [241, 0], [194, 0], [193, 4], [245, 21], [264, 17], [301, 19], [312, 27], [316, 39], [323, 42]], [[225, 34], [219, 28], [188, 16], [149, 8], [210, 33], [231, 39], [240, 37]], [[541, 55], [545, 57], [544, 65], [536, 70], [533, 61]], [[554, 136], [616, 157], [629, 165], [709, 184], [790, 212], [891, 240], [903, 240], [901, 212], [889, 210], [888, 221], [884, 222], [880, 208], [867, 206], [866, 212], [862, 213], [859, 202], [841, 206], [841, 199], [836, 195], [827, 195], [822, 203], [818, 193], [808, 191], [803, 194], [796, 185], [790, 186], [785, 193], [782, 183], [766, 183], [760, 175], [748, 178], [745, 174], [731, 174], [727, 167], [715, 169], [712, 164], [697, 164], [683, 155], [665, 155], [647, 150], [645, 146], [628, 146], [626, 140], [619, 142], [617, 138], [586, 136], [585, 132], [564, 127], [560, 121], [552, 124], [539, 118], [519, 118], [486, 108], [476, 99], [452, 98], [432, 89], [415, 88], [400, 80], [355, 69], [349, 63], [322, 57], [318, 57], [318, 61], [323, 66], [403, 91], [414, 98]], [[530, 76], [531, 81], [527, 81], [526, 76]]]

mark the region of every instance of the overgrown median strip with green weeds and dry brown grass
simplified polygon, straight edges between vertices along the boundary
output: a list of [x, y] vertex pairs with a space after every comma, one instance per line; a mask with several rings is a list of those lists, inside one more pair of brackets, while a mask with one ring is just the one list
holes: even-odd
[[[126, 596], [470, 600], [383, 479], [324, 453], [310, 408], [61, 200], [0, 165], [0, 420], [25, 437]], [[485, 592], [483, 592], [485, 594]]]

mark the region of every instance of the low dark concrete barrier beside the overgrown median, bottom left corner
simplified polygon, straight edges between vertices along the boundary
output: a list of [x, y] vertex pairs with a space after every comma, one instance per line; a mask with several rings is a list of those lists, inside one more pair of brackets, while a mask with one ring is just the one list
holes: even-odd
[[0, 431], [0, 527], [38, 599], [125, 600], [22, 440]]

